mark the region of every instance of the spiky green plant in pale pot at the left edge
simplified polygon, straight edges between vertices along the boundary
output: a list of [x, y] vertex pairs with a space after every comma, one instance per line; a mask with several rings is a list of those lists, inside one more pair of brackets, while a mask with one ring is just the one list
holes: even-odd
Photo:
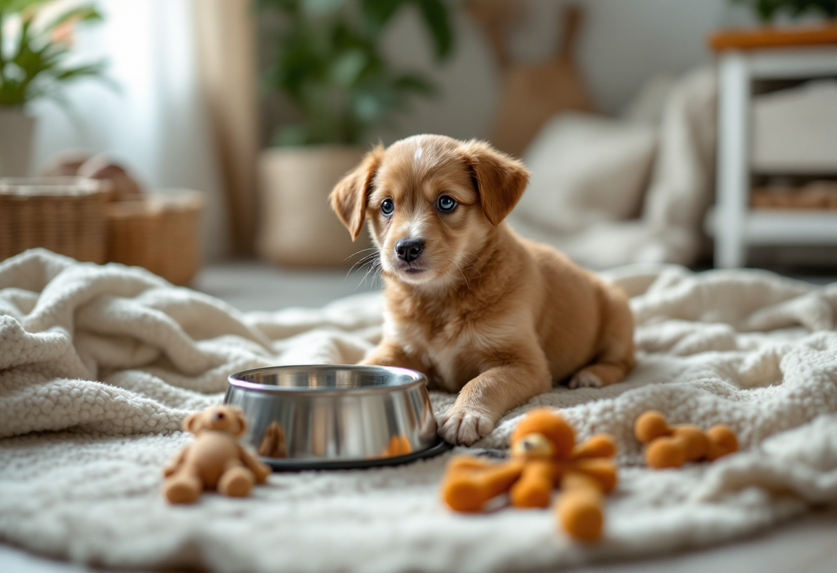
[[92, 4], [51, 0], [0, 0], [0, 175], [28, 173], [35, 128], [26, 106], [36, 100], [67, 102], [62, 88], [101, 77], [102, 61], [71, 61], [76, 24], [102, 19]]

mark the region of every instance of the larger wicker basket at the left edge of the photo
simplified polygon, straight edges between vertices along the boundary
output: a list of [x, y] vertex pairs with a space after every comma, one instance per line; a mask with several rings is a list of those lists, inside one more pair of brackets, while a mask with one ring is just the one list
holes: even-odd
[[105, 187], [76, 177], [0, 179], [0, 261], [44, 247], [105, 262]]

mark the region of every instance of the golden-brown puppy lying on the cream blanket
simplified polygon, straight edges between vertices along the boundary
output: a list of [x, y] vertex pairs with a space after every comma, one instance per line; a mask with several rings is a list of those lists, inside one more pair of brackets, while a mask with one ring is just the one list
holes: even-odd
[[439, 421], [454, 444], [553, 382], [610, 385], [634, 368], [624, 292], [503, 222], [528, 178], [485, 142], [420, 135], [375, 147], [331, 192], [352, 239], [368, 219], [386, 282], [383, 340], [362, 364], [459, 392]]

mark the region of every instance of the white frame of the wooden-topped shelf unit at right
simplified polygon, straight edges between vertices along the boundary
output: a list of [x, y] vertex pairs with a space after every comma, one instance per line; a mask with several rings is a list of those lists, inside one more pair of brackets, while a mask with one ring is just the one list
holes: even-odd
[[749, 209], [752, 81], [824, 76], [837, 76], [837, 47], [719, 55], [717, 199], [705, 225], [715, 238], [715, 266], [743, 266], [749, 245], [837, 245], [837, 212]]

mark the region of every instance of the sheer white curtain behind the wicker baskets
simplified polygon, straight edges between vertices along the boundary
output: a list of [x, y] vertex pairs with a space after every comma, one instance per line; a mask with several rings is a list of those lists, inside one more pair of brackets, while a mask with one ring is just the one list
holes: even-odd
[[[80, 58], [110, 62], [118, 90], [85, 80], [66, 90], [76, 121], [37, 102], [36, 165], [80, 147], [112, 152], [149, 188], [207, 194], [204, 250], [229, 254], [229, 228], [205, 103], [199, 90], [194, 0], [100, 0], [105, 23], [79, 31]], [[199, 0], [198, 0], [199, 1]]]

